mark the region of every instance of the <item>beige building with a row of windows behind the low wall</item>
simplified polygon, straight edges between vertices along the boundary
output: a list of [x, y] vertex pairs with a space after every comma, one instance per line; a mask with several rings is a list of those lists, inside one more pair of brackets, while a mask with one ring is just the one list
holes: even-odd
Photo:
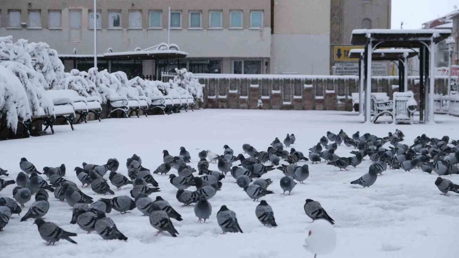
[[[390, 2], [98, 0], [97, 52], [132, 51], [170, 41], [189, 53], [184, 59], [168, 60], [170, 69], [185, 67], [194, 73], [329, 74], [334, 65], [330, 49], [337, 44], [350, 44], [353, 28], [368, 24], [387, 28]], [[92, 54], [93, 17], [92, 0], [0, 0], [0, 36], [43, 41], [59, 54]], [[148, 76], [158, 73], [164, 62], [113, 60], [100, 61], [98, 66], [113, 71], [127, 69], [130, 76]], [[89, 59], [76, 64], [65, 61], [67, 71], [91, 66]]]

